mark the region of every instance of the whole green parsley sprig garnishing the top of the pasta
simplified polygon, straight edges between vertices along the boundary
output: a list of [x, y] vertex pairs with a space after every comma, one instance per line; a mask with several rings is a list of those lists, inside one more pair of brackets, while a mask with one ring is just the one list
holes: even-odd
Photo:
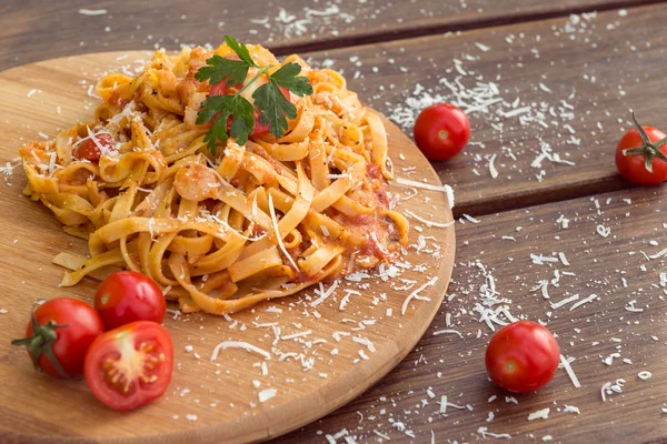
[[[301, 67], [297, 63], [286, 63], [273, 73], [269, 70], [272, 64], [260, 67], [250, 57], [248, 48], [233, 38], [225, 36], [225, 42], [239, 57], [239, 60], [223, 59], [213, 56], [206, 61], [195, 78], [201, 82], [207, 81], [210, 85], [226, 82], [228, 85], [243, 85], [233, 95], [210, 95], [201, 104], [197, 114], [197, 124], [209, 122], [219, 114], [211, 129], [207, 132], [203, 141], [208, 149], [216, 154], [218, 141], [227, 142], [230, 137], [238, 144], [243, 144], [252, 134], [255, 128], [255, 108], [260, 112], [261, 124], [269, 124], [269, 132], [277, 138], [282, 137], [289, 128], [287, 119], [297, 118], [297, 108], [282, 94], [279, 87], [285, 88], [299, 97], [312, 94], [312, 87], [308, 84], [308, 78], [300, 77]], [[257, 69], [257, 73], [246, 82], [250, 68]], [[252, 83], [265, 75], [268, 82], [259, 87], [253, 93], [255, 105], [241, 95]], [[229, 132], [227, 122], [231, 118]]]

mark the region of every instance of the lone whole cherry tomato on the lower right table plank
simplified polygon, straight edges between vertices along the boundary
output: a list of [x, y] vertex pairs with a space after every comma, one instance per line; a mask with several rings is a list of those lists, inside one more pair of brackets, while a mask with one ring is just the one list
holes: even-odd
[[491, 381], [515, 393], [528, 393], [547, 385], [560, 359], [556, 339], [547, 329], [530, 321], [504, 326], [486, 351]]

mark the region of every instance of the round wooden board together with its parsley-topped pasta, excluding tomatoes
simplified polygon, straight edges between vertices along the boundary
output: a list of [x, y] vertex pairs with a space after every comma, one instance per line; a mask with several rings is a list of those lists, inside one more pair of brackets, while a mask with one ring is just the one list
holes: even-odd
[[[2, 438], [267, 440], [379, 381], [438, 312], [451, 190], [340, 73], [231, 39], [0, 87]], [[37, 299], [90, 300], [119, 270], [162, 290], [176, 360], [131, 414], [8, 345]]]

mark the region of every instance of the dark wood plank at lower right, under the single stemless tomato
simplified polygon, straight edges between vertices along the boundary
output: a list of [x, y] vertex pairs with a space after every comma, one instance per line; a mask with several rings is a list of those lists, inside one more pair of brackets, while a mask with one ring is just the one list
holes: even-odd
[[[542, 442], [547, 435], [563, 443], [665, 442], [666, 209], [667, 188], [663, 186], [457, 224], [459, 248], [450, 302], [444, 303], [418, 346], [358, 400], [278, 442], [325, 442], [323, 434], [344, 428], [358, 443], [388, 442], [375, 431], [389, 436], [392, 444], [477, 442], [482, 441], [482, 431], [509, 434], [512, 442]], [[558, 222], [561, 216], [568, 219], [567, 228]], [[598, 230], [610, 233], [604, 238]], [[558, 252], [570, 265], [560, 260], [539, 265], [531, 260], [531, 254], [558, 258]], [[648, 260], [641, 252], [664, 255]], [[545, 280], [550, 300], [532, 291]], [[496, 294], [490, 297], [492, 287]], [[599, 299], [573, 311], [578, 301], [550, 306], [574, 294], [579, 294], [578, 301], [591, 294]], [[514, 316], [546, 323], [558, 335], [561, 353], [576, 360], [571, 367], [581, 387], [575, 389], [566, 372], [558, 370], [544, 390], [515, 395], [518, 404], [506, 401], [509, 394], [487, 380], [484, 353], [492, 332], [476, 312], [478, 304], [491, 299], [511, 301], [495, 304], [494, 310], [506, 305]], [[643, 312], [628, 311], [631, 306]], [[441, 330], [455, 330], [462, 337], [434, 334]], [[614, 353], [619, 355], [606, 365], [603, 360]], [[639, 372], [650, 372], [653, 377], [643, 381]], [[626, 381], [623, 393], [606, 395], [603, 402], [603, 385], [619, 379]], [[444, 395], [470, 410], [449, 405], [441, 414], [438, 402]], [[580, 414], [566, 412], [566, 405], [576, 406]], [[542, 408], [550, 408], [548, 418], [528, 421], [530, 413]], [[490, 413], [494, 417], [488, 421]], [[346, 443], [342, 436], [337, 442]]]

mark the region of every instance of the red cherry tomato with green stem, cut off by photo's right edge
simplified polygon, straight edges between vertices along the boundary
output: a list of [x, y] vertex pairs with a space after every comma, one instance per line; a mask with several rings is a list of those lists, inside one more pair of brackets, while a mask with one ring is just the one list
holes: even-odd
[[[634, 118], [634, 115], [633, 115]], [[659, 185], [667, 180], [667, 162], [659, 154], [667, 155], [667, 144], [658, 144], [667, 134], [653, 127], [639, 127], [624, 134], [616, 148], [616, 169], [627, 181], [637, 185]], [[639, 131], [643, 131], [651, 143], [646, 144]], [[626, 150], [630, 150], [627, 152]], [[626, 153], [624, 154], [624, 151]], [[635, 151], [635, 154], [630, 154]], [[628, 154], [628, 155], [626, 155]], [[653, 172], [646, 169], [646, 157], [653, 158]]]

